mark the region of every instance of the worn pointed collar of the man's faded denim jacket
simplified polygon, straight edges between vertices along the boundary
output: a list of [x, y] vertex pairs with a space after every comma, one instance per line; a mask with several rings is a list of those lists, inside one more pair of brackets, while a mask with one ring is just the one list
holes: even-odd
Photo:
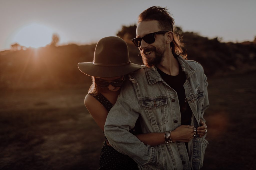
[[[177, 59], [180, 63], [182, 71], [185, 72], [187, 79], [188, 77], [190, 77], [192, 74], [196, 72], [196, 70], [193, 69], [191, 66], [189, 66], [187, 61], [184, 60], [182, 56], [178, 56]], [[158, 73], [157, 68], [155, 66], [151, 68], [145, 67], [145, 71], [146, 71], [147, 80], [149, 84], [154, 84], [158, 81], [162, 81], [162, 77]]]

